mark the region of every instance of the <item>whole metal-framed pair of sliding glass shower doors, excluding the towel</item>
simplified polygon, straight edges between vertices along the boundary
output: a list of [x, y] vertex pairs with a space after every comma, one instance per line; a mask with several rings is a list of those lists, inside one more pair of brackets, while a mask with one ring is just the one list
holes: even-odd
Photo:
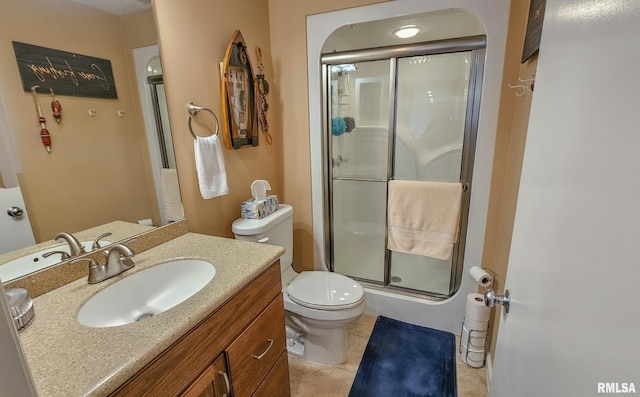
[[[331, 270], [407, 294], [459, 288], [484, 48], [474, 36], [322, 56]], [[450, 260], [386, 249], [391, 179], [462, 184]]]

